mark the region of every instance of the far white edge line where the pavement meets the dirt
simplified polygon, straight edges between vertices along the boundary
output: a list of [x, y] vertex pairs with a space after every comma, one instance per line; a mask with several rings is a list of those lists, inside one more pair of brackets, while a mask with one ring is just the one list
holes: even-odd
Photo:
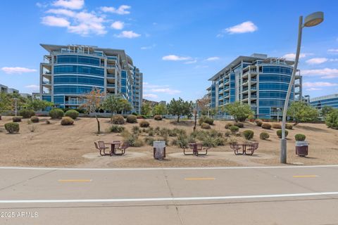
[[338, 165], [314, 166], [262, 166], [262, 167], [172, 167], [172, 168], [58, 168], [58, 167], [0, 167], [0, 169], [33, 169], [33, 170], [89, 170], [89, 171], [128, 171], [128, 170], [196, 170], [196, 169], [292, 169], [292, 168], [318, 168], [338, 167]]

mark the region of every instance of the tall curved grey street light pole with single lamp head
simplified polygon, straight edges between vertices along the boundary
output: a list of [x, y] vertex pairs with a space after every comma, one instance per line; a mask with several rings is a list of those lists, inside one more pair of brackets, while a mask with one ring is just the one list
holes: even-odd
[[297, 41], [297, 51], [296, 58], [294, 60], [294, 70], [292, 71], [292, 77], [289, 83], [289, 88], [287, 89], [287, 96], [284, 102], [283, 108], [283, 117], [282, 117], [282, 140], [280, 141], [280, 162], [287, 163], [287, 139], [285, 139], [285, 123], [287, 121], [287, 108], [289, 106], [289, 98], [292, 91], [292, 86], [294, 86], [294, 79], [296, 77], [297, 66], [299, 62], [299, 53], [301, 51], [301, 34], [303, 27], [313, 27], [322, 23], [324, 20], [323, 12], [315, 12], [306, 16], [303, 24], [303, 16], [299, 17], [299, 27], [298, 27], [298, 41]]

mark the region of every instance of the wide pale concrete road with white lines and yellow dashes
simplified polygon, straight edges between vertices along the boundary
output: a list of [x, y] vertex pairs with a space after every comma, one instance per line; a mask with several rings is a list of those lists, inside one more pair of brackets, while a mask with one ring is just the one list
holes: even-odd
[[338, 166], [0, 167], [0, 224], [338, 224]]

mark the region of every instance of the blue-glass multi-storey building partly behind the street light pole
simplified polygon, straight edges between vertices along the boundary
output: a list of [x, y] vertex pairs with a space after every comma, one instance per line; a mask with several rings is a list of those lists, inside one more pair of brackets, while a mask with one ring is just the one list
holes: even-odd
[[[292, 76], [294, 61], [254, 53], [239, 56], [209, 79], [210, 106], [219, 112], [228, 103], [249, 104], [255, 116], [275, 120], [282, 117], [284, 101]], [[302, 96], [299, 70], [290, 96], [299, 101]]]

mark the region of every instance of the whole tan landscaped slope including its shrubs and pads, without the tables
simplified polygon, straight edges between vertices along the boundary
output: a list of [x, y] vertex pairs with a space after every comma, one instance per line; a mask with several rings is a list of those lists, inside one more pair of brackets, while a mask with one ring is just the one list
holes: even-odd
[[[279, 124], [271, 126], [261, 122], [233, 124], [229, 121], [201, 121], [192, 133], [194, 121], [152, 120], [130, 118], [124, 124], [112, 124], [111, 119], [101, 118], [101, 134], [96, 134], [95, 118], [70, 117], [49, 119], [39, 117], [21, 119], [17, 122], [20, 130], [8, 134], [4, 124], [12, 122], [13, 117], [0, 120], [0, 165], [35, 167], [215, 167], [215, 166], [254, 166], [278, 165], [280, 158], [280, 138], [277, 136]], [[120, 119], [118, 119], [120, 120]], [[117, 120], [117, 121], [118, 121]], [[18, 120], [17, 120], [18, 121]], [[149, 127], [147, 123], [149, 122]], [[114, 122], [114, 120], [113, 120]], [[121, 122], [122, 123], [122, 122]], [[231, 123], [231, 124], [230, 124]], [[261, 127], [257, 126], [260, 124]], [[140, 126], [142, 125], [142, 127]], [[239, 131], [233, 127], [237, 125]], [[244, 127], [242, 127], [244, 125]], [[14, 126], [15, 127], [15, 126]], [[228, 127], [229, 129], [226, 129]], [[269, 128], [270, 129], [264, 129]], [[289, 127], [290, 128], [290, 127]], [[231, 129], [231, 131], [230, 131]], [[253, 139], [259, 142], [258, 150], [252, 156], [234, 155], [229, 143], [247, 141], [245, 130], [253, 131]], [[287, 160], [296, 165], [329, 165], [338, 163], [338, 131], [325, 124], [301, 123], [287, 129]], [[268, 135], [261, 135], [262, 132]], [[251, 138], [251, 132], [246, 132]], [[308, 157], [295, 154], [296, 134], [304, 134], [309, 143]], [[266, 138], [268, 139], [260, 139]], [[132, 147], [123, 156], [100, 156], [94, 141], [127, 140]], [[152, 141], [165, 140], [168, 143], [165, 160], [154, 160]], [[180, 145], [201, 141], [206, 146], [214, 146], [206, 156], [183, 155]], [[136, 147], [138, 146], [138, 147]]]

